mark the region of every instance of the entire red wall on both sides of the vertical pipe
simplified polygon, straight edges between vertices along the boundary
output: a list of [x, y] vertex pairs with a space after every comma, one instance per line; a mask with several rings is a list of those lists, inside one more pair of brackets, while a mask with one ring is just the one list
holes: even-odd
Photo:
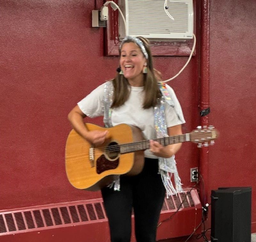
[[[216, 0], [210, 6], [209, 121], [219, 129], [220, 139], [209, 149], [208, 194], [220, 186], [252, 186], [255, 207], [253, 2]], [[0, 2], [1, 209], [100, 197], [99, 192], [79, 191], [68, 183], [64, 156], [71, 129], [68, 112], [96, 86], [112, 78], [118, 66], [117, 57], [104, 56], [104, 29], [91, 27], [91, 11], [102, 3]], [[198, 65], [197, 15], [197, 55], [169, 83], [187, 120], [184, 132], [194, 129], [200, 119], [199, 69], [204, 66]], [[155, 67], [167, 79], [187, 59], [155, 57]], [[96, 123], [102, 122], [97, 119]], [[199, 165], [198, 154], [196, 145], [190, 143], [183, 144], [177, 154], [184, 187], [193, 185], [190, 168]], [[256, 222], [254, 208], [252, 222]]]

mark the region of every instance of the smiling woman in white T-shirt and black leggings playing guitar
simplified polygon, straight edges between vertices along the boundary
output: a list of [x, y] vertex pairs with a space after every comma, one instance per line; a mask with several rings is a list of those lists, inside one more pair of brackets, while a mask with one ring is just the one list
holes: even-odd
[[[120, 72], [116, 78], [107, 82], [108, 85], [102, 84], [93, 90], [74, 107], [68, 118], [74, 129], [87, 141], [93, 145], [103, 144], [108, 131], [88, 131], [84, 127], [84, 117], [94, 118], [104, 115], [103, 107], [105, 109], [107, 107], [104, 98], [106, 90], [112, 88], [113, 92], [108, 92], [111, 94], [109, 106], [111, 112], [107, 110], [111, 115], [106, 115], [105, 110], [105, 123], [108, 126], [121, 123], [137, 126], [146, 139], [151, 139], [150, 149], [144, 152], [145, 164], [142, 172], [137, 176], [120, 176], [113, 187], [105, 187], [101, 193], [108, 215], [112, 242], [130, 241], [132, 207], [137, 242], [155, 242], [157, 222], [166, 189], [168, 190], [167, 183], [170, 183], [170, 178], [166, 176], [169, 170], [163, 173], [163, 167], [168, 164], [175, 166], [173, 165], [175, 162], [170, 165], [171, 163], [166, 163], [166, 160], [171, 157], [174, 161], [173, 156], [180, 149], [181, 143], [163, 146], [152, 140], [156, 138], [157, 132], [163, 129], [158, 127], [158, 131], [156, 130], [157, 114], [154, 110], [157, 110], [157, 105], [164, 106], [166, 134], [169, 136], [182, 134], [181, 124], [185, 121], [180, 104], [168, 85], [166, 88], [171, 94], [175, 107], [163, 101], [155, 75], [157, 72], [153, 69], [148, 41], [142, 37], [127, 36], [121, 43], [119, 52]], [[159, 75], [157, 77], [159, 78]], [[160, 100], [162, 100], [161, 104]], [[160, 122], [164, 118], [159, 119]], [[163, 162], [160, 162], [161, 159]], [[179, 182], [179, 177], [176, 178]]]

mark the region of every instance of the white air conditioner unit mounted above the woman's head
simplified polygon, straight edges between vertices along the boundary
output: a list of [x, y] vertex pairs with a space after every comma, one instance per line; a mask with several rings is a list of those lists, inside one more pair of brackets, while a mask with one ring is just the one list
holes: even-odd
[[122, 18], [119, 16], [119, 37], [125, 35], [143, 36], [148, 39], [192, 39], [193, 0], [119, 0], [127, 25], [125, 34]]

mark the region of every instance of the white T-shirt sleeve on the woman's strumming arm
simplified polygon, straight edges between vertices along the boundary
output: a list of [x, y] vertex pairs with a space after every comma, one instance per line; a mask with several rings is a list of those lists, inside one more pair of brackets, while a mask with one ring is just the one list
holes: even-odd
[[77, 103], [86, 116], [95, 118], [104, 115], [104, 85], [101, 84]]

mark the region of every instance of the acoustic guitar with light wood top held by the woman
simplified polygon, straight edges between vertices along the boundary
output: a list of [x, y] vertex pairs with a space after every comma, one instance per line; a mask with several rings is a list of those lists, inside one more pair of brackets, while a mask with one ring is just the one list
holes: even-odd
[[[144, 140], [139, 128], [119, 124], [111, 128], [86, 123], [89, 131], [108, 130], [104, 144], [93, 147], [74, 129], [66, 143], [66, 173], [69, 182], [77, 189], [98, 191], [114, 180], [114, 175], [134, 176], [144, 166], [144, 150], [149, 140]], [[162, 145], [194, 142], [198, 147], [213, 144], [218, 132], [213, 126], [198, 127], [190, 133], [154, 139]]]

